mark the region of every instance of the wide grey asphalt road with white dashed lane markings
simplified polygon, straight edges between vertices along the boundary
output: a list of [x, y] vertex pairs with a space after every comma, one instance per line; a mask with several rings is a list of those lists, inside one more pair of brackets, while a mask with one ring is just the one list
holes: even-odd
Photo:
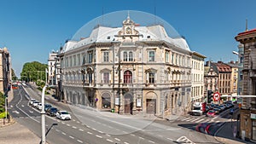
[[[26, 90], [25, 90], [26, 89]], [[9, 112], [18, 123], [25, 125], [41, 137], [40, 112], [28, 105], [30, 98], [40, 101], [40, 94], [31, 87], [14, 90]], [[72, 120], [46, 116], [46, 141], [61, 143], [218, 143], [212, 135], [199, 133], [187, 121], [170, 122], [154, 118], [123, 116], [110, 112], [97, 112], [89, 107], [74, 107], [48, 97], [47, 103], [72, 113]], [[185, 123], [183, 123], [185, 122]], [[53, 125], [57, 124], [57, 125]], [[187, 125], [186, 125], [187, 124]], [[191, 122], [191, 124], [195, 124]], [[39, 141], [38, 141], [39, 143]]]

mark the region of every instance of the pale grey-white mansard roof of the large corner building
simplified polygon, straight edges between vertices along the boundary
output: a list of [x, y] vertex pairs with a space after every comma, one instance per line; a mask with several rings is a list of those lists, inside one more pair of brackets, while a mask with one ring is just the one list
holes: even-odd
[[[68, 41], [64, 46], [63, 52], [77, 49], [90, 43], [117, 42], [116, 36], [122, 29], [123, 27], [96, 26], [90, 33], [90, 37], [81, 37], [79, 41]], [[162, 41], [172, 43], [177, 48], [190, 51], [189, 44], [183, 37], [168, 37], [164, 26], [135, 26], [134, 29], [138, 32], [138, 35], [142, 36], [139, 38], [139, 41]]]

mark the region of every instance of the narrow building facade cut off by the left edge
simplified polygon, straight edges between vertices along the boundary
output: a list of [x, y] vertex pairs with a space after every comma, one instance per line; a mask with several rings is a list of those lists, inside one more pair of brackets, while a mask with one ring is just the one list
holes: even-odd
[[11, 58], [7, 48], [0, 49], [0, 92], [8, 89], [11, 82]]

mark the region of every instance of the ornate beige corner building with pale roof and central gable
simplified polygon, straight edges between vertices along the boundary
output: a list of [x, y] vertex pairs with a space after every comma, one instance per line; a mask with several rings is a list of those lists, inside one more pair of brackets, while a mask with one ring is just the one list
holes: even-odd
[[121, 27], [96, 26], [90, 37], [67, 41], [59, 57], [64, 101], [162, 118], [190, 106], [191, 51], [163, 26], [137, 26], [128, 15]]

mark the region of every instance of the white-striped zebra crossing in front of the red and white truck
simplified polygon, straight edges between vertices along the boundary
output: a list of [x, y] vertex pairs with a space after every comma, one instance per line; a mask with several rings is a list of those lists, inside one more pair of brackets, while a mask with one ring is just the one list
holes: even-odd
[[218, 123], [219, 121], [215, 121], [214, 118], [208, 118], [208, 117], [189, 117], [184, 116], [175, 119], [175, 121], [179, 122], [190, 122], [190, 123]]

